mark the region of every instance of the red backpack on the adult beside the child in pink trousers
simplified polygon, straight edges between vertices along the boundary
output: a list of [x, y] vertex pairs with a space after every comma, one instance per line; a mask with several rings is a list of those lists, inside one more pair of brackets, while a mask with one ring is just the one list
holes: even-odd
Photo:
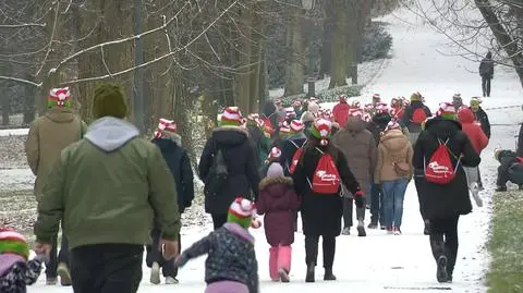
[[316, 170], [314, 171], [313, 183], [311, 190], [316, 194], [336, 194], [340, 191], [340, 173], [336, 168], [332, 156], [325, 154], [319, 148], [316, 148], [321, 152]]

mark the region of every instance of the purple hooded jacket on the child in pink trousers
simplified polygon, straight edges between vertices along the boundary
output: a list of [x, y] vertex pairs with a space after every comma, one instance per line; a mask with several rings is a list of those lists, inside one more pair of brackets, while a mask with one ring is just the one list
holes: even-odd
[[300, 197], [294, 192], [291, 178], [266, 178], [259, 183], [259, 215], [264, 215], [265, 236], [271, 246], [291, 245], [294, 242], [294, 212], [300, 208]]

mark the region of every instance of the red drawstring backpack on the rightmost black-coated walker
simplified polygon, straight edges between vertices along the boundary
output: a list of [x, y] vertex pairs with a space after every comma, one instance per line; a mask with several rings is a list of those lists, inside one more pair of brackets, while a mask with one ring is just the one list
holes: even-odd
[[461, 158], [458, 159], [455, 168], [452, 167], [450, 155], [452, 155], [454, 158], [455, 156], [450, 152], [450, 149], [447, 147], [448, 142], [449, 139], [443, 143], [438, 137], [438, 148], [436, 151], [434, 151], [433, 156], [428, 160], [428, 163], [425, 162], [425, 179], [428, 182], [436, 184], [449, 184], [455, 176], [455, 171], [460, 166]]

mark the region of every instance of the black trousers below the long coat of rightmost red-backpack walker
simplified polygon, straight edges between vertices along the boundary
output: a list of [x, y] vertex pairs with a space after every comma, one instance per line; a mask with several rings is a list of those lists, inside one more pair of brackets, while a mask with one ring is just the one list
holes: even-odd
[[452, 276], [458, 257], [458, 221], [460, 216], [446, 219], [430, 219], [430, 248], [437, 260], [447, 256], [447, 272]]

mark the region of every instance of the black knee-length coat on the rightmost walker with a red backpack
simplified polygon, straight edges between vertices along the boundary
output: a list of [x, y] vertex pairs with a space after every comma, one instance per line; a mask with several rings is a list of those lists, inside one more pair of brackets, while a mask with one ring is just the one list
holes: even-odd
[[[455, 178], [446, 185], [435, 184], [423, 180], [421, 188], [423, 192], [418, 196], [423, 203], [424, 215], [427, 219], [441, 219], [454, 217], [457, 215], [466, 215], [472, 211], [472, 204], [469, 197], [469, 186], [466, 183], [464, 167], [477, 167], [481, 158], [471, 144], [465, 133], [461, 131], [461, 124], [457, 121], [435, 118], [427, 121], [425, 131], [419, 134], [414, 147], [413, 164], [416, 170], [425, 170], [425, 163], [430, 159], [439, 146], [438, 137], [441, 141], [449, 142], [448, 148], [454, 156], [463, 156], [461, 164], [457, 170]], [[455, 167], [457, 159], [450, 155], [452, 166]]]

